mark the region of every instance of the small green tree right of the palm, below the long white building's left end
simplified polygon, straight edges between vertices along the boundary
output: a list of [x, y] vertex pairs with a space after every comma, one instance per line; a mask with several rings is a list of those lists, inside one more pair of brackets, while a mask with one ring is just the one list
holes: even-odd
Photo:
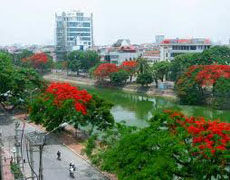
[[161, 61], [153, 64], [153, 71], [157, 74], [158, 79], [162, 82], [164, 81], [164, 77], [167, 78], [169, 70], [171, 67], [171, 63], [167, 61]]

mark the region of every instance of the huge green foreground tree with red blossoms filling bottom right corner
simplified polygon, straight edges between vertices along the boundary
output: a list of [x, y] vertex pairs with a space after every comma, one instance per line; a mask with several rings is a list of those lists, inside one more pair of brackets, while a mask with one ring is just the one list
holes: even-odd
[[229, 123], [167, 110], [91, 157], [121, 180], [229, 179], [229, 132]]

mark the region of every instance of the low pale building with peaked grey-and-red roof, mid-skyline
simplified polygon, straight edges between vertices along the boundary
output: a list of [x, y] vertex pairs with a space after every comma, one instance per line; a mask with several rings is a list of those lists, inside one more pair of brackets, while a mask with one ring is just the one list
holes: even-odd
[[124, 61], [137, 59], [140, 54], [128, 39], [119, 39], [111, 47], [100, 49], [101, 60], [121, 65]]

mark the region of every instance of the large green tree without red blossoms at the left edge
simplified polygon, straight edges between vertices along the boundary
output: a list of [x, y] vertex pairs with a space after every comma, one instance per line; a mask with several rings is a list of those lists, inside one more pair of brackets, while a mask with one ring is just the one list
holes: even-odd
[[43, 81], [33, 69], [15, 67], [6, 54], [0, 54], [0, 104], [6, 110], [25, 107], [31, 92]]

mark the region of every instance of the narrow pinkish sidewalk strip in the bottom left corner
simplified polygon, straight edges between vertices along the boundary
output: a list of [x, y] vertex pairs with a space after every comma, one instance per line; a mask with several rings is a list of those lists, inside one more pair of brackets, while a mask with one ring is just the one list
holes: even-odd
[[3, 149], [2, 154], [2, 172], [3, 172], [3, 180], [14, 180], [14, 175], [11, 173], [10, 169], [10, 153]]

